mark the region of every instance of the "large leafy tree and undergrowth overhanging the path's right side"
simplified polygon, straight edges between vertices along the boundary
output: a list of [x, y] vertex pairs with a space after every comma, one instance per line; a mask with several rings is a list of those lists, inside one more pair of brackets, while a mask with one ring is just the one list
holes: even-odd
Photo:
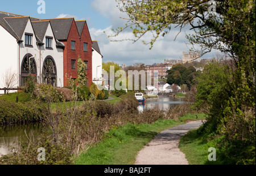
[[151, 32], [150, 41], [143, 42], [152, 48], [174, 25], [180, 31], [191, 27], [195, 34], [187, 35], [188, 42], [199, 45], [201, 55], [213, 49], [228, 54], [232, 64], [213, 63], [200, 74], [196, 103], [205, 102], [212, 114], [204, 128], [224, 137], [226, 157], [255, 164], [255, 0], [116, 1], [128, 16], [116, 35], [130, 27], [138, 41]]

